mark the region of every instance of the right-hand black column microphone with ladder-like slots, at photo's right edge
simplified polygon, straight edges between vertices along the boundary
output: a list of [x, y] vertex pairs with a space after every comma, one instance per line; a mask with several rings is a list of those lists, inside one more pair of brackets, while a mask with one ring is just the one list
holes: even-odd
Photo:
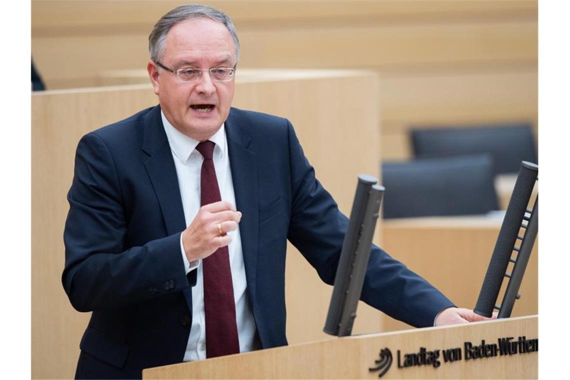
[[[499, 317], [509, 317], [514, 300], [520, 297], [517, 292], [538, 232], [538, 197], [534, 210], [527, 209], [537, 179], [538, 165], [523, 161], [473, 310], [481, 316], [491, 317], [493, 309], [499, 309]], [[519, 234], [521, 229], [524, 231], [522, 235]], [[518, 247], [515, 245], [517, 240], [521, 241]], [[518, 252], [516, 258], [511, 257], [513, 251]], [[512, 274], [506, 273], [509, 262], [515, 263]], [[503, 304], [497, 307], [495, 302], [503, 277], [510, 278], [510, 281]]]

